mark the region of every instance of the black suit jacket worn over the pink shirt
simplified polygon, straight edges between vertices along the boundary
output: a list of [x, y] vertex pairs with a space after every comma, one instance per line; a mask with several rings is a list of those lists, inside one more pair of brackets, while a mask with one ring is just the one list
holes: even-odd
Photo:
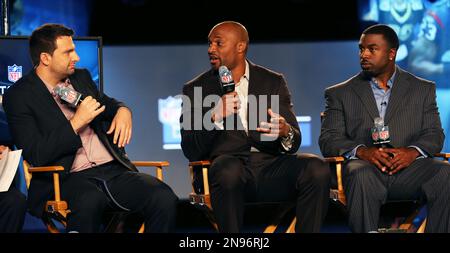
[[[124, 149], [114, 145], [112, 136], [106, 134], [117, 109], [125, 105], [99, 92], [85, 69], [77, 69], [69, 79], [75, 90], [105, 105], [106, 110], [90, 126], [117, 161], [136, 171]], [[65, 173], [62, 173], [61, 179], [64, 183], [64, 179], [70, 176], [75, 154], [82, 146], [81, 139], [35, 71], [6, 91], [3, 105], [14, 143], [23, 149], [24, 159], [33, 166], [63, 166]], [[46, 200], [51, 198], [51, 180], [50, 174], [33, 175], [28, 190], [28, 206], [35, 216], [42, 215]]]

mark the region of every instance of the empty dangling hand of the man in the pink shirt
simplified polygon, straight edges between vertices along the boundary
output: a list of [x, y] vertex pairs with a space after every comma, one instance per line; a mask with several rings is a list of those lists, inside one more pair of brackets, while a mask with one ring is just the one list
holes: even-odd
[[120, 107], [111, 122], [111, 127], [107, 134], [111, 134], [114, 131], [113, 142], [114, 144], [117, 143], [119, 148], [121, 148], [130, 144], [132, 128], [131, 111], [126, 107]]

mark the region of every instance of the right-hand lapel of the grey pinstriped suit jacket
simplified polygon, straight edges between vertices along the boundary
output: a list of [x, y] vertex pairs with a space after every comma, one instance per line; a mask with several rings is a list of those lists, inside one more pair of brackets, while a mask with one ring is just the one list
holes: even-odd
[[389, 123], [389, 120], [395, 115], [395, 111], [397, 111], [402, 99], [405, 98], [408, 93], [408, 83], [404, 77], [403, 71], [397, 68], [397, 74], [394, 79], [394, 85], [392, 87], [391, 96], [389, 97], [389, 103], [384, 119], [386, 124]]

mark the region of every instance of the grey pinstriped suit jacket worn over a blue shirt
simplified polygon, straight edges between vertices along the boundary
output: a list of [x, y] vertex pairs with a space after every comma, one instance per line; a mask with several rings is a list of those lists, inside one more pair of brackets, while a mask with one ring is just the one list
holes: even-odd
[[[373, 146], [370, 129], [379, 117], [369, 80], [362, 74], [325, 90], [319, 145], [324, 156], [341, 156], [359, 144]], [[444, 134], [434, 83], [397, 67], [385, 115], [394, 147], [417, 146], [428, 155], [442, 149]]]

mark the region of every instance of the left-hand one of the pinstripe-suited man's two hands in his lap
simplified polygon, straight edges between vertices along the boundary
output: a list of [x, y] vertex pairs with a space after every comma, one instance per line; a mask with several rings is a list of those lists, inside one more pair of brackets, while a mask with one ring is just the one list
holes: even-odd
[[377, 147], [359, 147], [356, 150], [356, 156], [364, 161], [375, 164], [382, 172], [386, 172], [388, 168], [392, 167], [391, 157], [389, 152], [383, 148]]

